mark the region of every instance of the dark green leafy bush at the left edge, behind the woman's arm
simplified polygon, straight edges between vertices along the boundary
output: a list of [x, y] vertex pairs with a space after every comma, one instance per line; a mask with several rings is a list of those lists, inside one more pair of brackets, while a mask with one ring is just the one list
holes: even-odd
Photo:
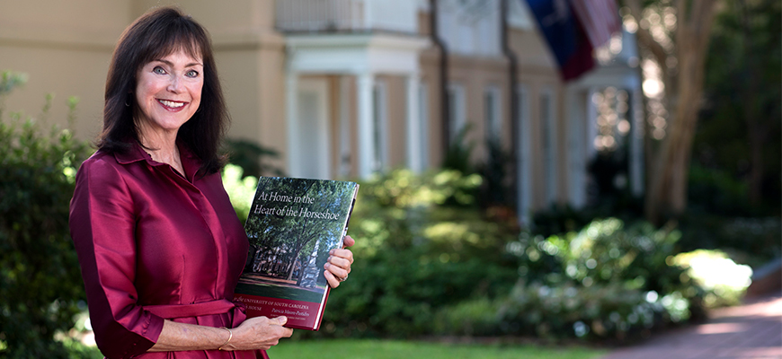
[[[23, 78], [3, 74], [0, 96]], [[49, 98], [50, 100], [50, 98]], [[73, 113], [76, 101], [69, 106]], [[49, 103], [44, 109], [49, 108]], [[68, 234], [76, 168], [89, 153], [68, 130], [46, 134], [31, 118], [0, 114], [0, 355], [66, 358], [54, 339], [84, 300]], [[45, 116], [45, 114], [44, 114]]]

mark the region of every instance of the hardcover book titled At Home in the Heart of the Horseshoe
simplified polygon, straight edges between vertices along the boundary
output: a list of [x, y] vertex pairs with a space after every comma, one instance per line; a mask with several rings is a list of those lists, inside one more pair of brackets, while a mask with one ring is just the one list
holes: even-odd
[[342, 248], [359, 185], [339, 180], [262, 177], [244, 231], [250, 251], [235, 289], [248, 317], [288, 317], [317, 330], [330, 287], [329, 250]]

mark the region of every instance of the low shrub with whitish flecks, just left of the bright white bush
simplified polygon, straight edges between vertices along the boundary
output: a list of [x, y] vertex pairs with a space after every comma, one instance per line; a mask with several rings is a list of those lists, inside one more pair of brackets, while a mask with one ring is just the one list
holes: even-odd
[[672, 261], [679, 238], [616, 218], [545, 239], [521, 236], [508, 250], [520, 258], [525, 280], [502, 302], [503, 330], [624, 339], [700, 317], [703, 290], [682, 283], [684, 268]]

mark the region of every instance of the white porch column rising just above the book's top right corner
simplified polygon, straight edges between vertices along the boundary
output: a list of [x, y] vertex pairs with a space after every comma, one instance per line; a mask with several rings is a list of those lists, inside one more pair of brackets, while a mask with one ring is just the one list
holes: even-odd
[[375, 103], [372, 91], [375, 87], [375, 78], [371, 73], [359, 74], [358, 78], [359, 99], [359, 178], [366, 179], [372, 174], [373, 162], [375, 162]]

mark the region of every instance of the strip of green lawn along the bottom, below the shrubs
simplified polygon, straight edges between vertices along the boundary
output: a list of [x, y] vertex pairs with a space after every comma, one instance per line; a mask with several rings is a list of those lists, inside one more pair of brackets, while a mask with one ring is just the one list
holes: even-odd
[[[329, 354], [330, 353], [330, 354]], [[579, 346], [501, 346], [413, 342], [401, 340], [280, 340], [271, 359], [597, 359], [605, 351]]]

